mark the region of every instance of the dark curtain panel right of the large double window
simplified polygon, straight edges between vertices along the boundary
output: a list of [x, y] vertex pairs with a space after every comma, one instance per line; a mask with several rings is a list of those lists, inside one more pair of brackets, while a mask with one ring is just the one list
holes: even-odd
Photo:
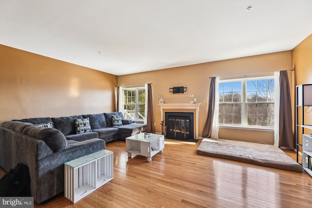
[[279, 145], [293, 150], [292, 103], [287, 71], [279, 75]]

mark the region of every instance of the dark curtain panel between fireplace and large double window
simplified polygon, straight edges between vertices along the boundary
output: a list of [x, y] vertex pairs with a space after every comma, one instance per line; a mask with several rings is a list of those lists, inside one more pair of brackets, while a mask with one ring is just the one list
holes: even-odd
[[209, 89], [208, 114], [202, 134], [203, 137], [211, 137], [214, 122], [214, 113], [215, 113], [215, 77], [212, 77]]

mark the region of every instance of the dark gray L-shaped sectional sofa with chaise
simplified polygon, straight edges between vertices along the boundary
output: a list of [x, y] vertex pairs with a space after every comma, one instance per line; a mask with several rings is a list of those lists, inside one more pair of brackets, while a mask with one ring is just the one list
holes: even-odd
[[[121, 118], [119, 126], [113, 125], [116, 117]], [[83, 131], [78, 133], [81, 120]], [[85, 121], [89, 121], [89, 128]], [[41, 203], [64, 190], [65, 162], [146, 129], [144, 124], [124, 120], [120, 112], [5, 121], [0, 126], [0, 166], [9, 171], [19, 162], [27, 165], [31, 194]]]

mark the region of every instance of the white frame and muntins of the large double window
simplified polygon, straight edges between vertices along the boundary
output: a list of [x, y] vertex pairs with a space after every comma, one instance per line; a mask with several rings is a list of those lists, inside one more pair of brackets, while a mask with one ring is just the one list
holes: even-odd
[[[260, 77], [249, 77], [249, 78], [237, 78], [237, 79], [224, 79], [224, 80], [219, 80], [219, 84], [220, 83], [226, 83], [226, 82], [241, 82], [241, 102], [219, 102], [219, 98], [217, 99], [218, 102], [218, 106], [220, 106], [220, 104], [229, 104], [232, 103], [233, 104], [241, 104], [241, 124], [218, 124], [218, 126], [220, 128], [239, 128], [239, 129], [247, 129], [247, 130], [251, 130], [251, 129], [256, 129], [256, 130], [262, 130], [262, 131], [273, 131], [274, 130], [274, 125], [273, 126], [256, 126], [256, 125], [248, 125], [248, 112], [247, 112], [247, 105], [249, 103], [253, 103], [253, 102], [248, 102], [247, 101], [247, 81], [255, 81], [255, 80], [266, 80], [266, 79], [273, 79], [274, 81], [274, 76], [260, 76]], [[275, 84], [275, 83], [274, 83]], [[273, 91], [274, 92], [274, 87], [273, 89], [267, 89], [268, 91]], [[258, 91], [256, 91], [258, 92]], [[223, 92], [224, 93], [224, 92]], [[218, 95], [220, 94], [220, 89], [218, 90]], [[274, 95], [273, 95], [274, 96]], [[232, 100], [233, 101], [233, 100]], [[255, 104], [273, 104], [273, 109], [274, 109], [274, 105], [275, 105], [275, 101], [271, 101], [271, 102], [254, 102]], [[224, 113], [223, 113], [224, 114]], [[275, 112], [273, 113], [273, 116], [275, 116]], [[219, 115], [219, 112], [218, 112]], [[274, 121], [274, 118], [273, 118]]]

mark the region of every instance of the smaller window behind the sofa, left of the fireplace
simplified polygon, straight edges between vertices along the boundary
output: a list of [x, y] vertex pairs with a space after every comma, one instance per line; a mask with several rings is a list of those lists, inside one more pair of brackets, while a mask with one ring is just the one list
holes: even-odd
[[145, 87], [122, 89], [122, 113], [125, 119], [145, 120]]

